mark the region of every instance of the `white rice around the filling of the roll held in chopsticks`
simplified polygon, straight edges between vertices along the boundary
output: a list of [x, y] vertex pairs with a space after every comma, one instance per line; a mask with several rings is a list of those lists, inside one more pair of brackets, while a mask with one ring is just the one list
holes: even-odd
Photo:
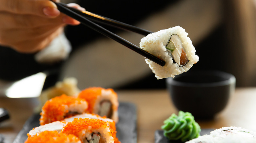
[[[174, 63], [173, 58], [168, 54], [168, 50], [165, 47], [173, 34], [180, 37], [184, 51], [187, 54], [189, 62], [185, 66], [179, 66], [178, 63]], [[193, 64], [198, 62], [199, 57], [195, 54], [196, 49], [187, 36], [188, 33], [185, 32], [185, 29], [175, 26], [151, 33], [140, 40], [139, 47], [141, 49], [165, 61], [165, 66], [162, 67], [149, 59], [145, 60], [158, 79], [175, 77], [175, 75], [188, 71]]]

